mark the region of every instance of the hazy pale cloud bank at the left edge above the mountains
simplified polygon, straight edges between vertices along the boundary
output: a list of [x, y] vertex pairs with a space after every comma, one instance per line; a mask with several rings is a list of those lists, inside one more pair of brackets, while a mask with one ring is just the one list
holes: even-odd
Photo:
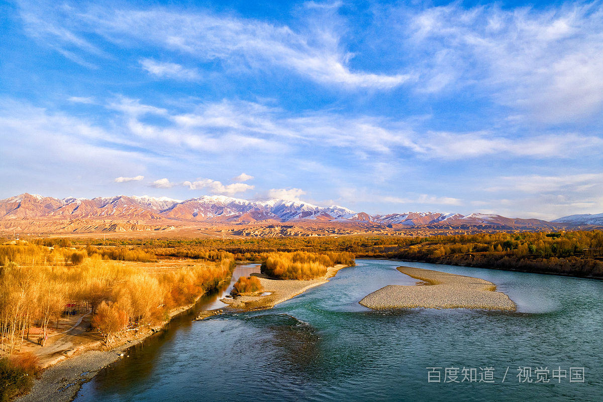
[[[8, 194], [34, 185], [47, 194], [72, 193], [74, 188], [90, 192], [123, 172], [163, 164], [160, 157], [124, 148], [131, 144], [128, 140], [86, 119], [3, 98], [0, 132], [6, 134], [0, 147], [0, 181]], [[41, 143], [40, 138], [46, 140]], [[98, 195], [95, 191], [92, 196]]]

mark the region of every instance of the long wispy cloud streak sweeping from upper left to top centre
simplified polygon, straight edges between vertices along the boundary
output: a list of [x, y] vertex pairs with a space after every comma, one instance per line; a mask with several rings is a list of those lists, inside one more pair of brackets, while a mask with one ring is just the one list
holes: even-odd
[[[254, 19], [190, 11], [178, 13], [160, 7], [147, 10], [90, 7], [74, 12], [71, 8], [50, 11], [30, 6], [22, 8], [28, 32], [43, 36], [46, 43], [62, 52], [67, 52], [66, 45], [69, 45], [98, 54], [100, 51], [95, 46], [82, 39], [85, 34], [94, 32], [121, 46], [145, 43], [166, 51], [184, 52], [201, 61], [223, 60], [237, 66], [243, 61], [256, 70], [265, 66], [280, 67], [326, 85], [386, 90], [414, 79], [414, 75], [407, 72], [390, 75], [351, 69], [349, 61], [353, 55], [341, 49], [338, 32], [325, 28], [315, 32], [308, 26], [307, 32], [296, 32], [286, 25]], [[46, 11], [44, 16], [38, 14], [43, 11]], [[80, 35], [65, 25], [79, 29]], [[195, 75], [194, 70], [178, 64], [158, 64], [153, 60], [141, 63], [156, 75], [174, 78], [184, 74], [187, 79]]]

